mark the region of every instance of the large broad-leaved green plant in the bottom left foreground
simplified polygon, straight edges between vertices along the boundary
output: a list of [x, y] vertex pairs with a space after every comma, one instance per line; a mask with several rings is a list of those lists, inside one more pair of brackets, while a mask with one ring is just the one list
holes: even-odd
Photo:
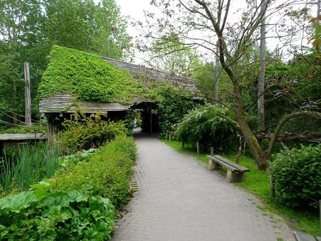
[[[104, 241], [113, 232], [115, 208], [107, 198], [91, 196], [93, 187], [62, 188], [66, 179], [46, 179], [0, 199], [3, 241]], [[37, 189], [37, 190], [35, 190]]]

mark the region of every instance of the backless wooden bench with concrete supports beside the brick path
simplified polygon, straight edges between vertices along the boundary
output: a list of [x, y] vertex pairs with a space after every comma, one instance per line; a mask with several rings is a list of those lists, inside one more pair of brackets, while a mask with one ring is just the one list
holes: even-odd
[[208, 158], [208, 170], [223, 169], [223, 166], [228, 169], [226, 181], [228, 181], [229, 183], [243, 181], [244, 173], [250, 171], [250, 169], [247, 169], [246, 167], [232, 162], [222, 156], [206, 155], [206, 157]]

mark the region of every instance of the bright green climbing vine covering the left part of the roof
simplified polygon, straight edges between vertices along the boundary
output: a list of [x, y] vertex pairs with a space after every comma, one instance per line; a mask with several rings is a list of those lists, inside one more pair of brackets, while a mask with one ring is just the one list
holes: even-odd
[[127, 71], [96, 55], [53, 46], [50, 56], [39, 85], [39, 100], [58, 91], [80, 100], [127, 104], [143, 93], [143, 85]]

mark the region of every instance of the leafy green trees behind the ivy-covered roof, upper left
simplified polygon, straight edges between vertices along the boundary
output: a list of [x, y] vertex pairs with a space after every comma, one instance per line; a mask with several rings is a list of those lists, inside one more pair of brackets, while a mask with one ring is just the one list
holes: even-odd
[[[114, 0], [4, 0], [0, 9], [0, 106], [11, 112], [24, 113], [23, 67], [29, 62], [32, 116], [38, 113], [37, 89], [52, 45], [120, 60], [132, 56]], [[0, 118], [12, 121], [1, 112]]]

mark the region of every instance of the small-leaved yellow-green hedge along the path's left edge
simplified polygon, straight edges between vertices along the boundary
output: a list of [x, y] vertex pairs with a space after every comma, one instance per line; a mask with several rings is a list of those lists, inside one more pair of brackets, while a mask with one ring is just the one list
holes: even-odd
[[[130, 157], [127, 155], [130, 148]], [[137, 147], [134, 139], [119, 135], [91, 155], [89, 161], [67, 164], [55, 174], [56, 178], [71, 177], [65, 183], [66, 188], [78, 190], [82, 185], [78, 180], [86, 180], [86, 185], [97, 186], [97, 194], [109, 198], [118, 208], [127, 203], [133, 193], [129, 182], [133, 171]], [[125, 167], [121, 167], [121, 159], [125, 159]]]

